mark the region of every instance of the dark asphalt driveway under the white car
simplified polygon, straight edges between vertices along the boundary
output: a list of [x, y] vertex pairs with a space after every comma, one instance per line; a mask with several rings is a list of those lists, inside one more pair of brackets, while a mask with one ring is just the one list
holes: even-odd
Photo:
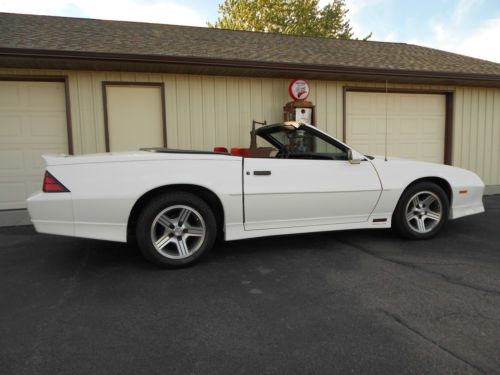
[[500, 196], [485, 203], [430, 241], [262, 238], [175, 271], [0, 228], [0, 373], [500, 373]]

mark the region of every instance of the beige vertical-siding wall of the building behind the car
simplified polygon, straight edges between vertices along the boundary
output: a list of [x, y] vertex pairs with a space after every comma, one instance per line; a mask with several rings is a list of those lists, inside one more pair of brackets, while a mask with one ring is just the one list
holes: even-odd
[[[164, 82], [167, 143], [172, 148], [248, 146], [253, 119], [282, 120], [289, 79], [176, 74], [0, 69], [0, 74], [69, 77], [75, 153], [105, 151], [102, 81]], [[316, 123], [342, 138], [343, 87], [384, 84], [311, 81]], [[477, 172], [487, 185], [500, 185], [500, 89], [390, 84], [390, 87], [455, 92], [453, 165]]]

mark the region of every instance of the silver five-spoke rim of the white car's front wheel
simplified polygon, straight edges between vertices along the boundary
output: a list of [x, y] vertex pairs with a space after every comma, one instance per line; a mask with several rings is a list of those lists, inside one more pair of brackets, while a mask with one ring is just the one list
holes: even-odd
[[432, 191], [415, 194], [406, 204], [406, 222], [417, 233], [429, 233], [441, 222], [443, 204]]

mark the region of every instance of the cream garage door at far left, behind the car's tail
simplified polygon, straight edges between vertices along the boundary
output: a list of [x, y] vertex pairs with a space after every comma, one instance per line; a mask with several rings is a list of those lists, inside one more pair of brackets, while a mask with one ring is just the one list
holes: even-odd
[[67, 153], [64, 83], [0, 81], [0, 210], [41, 189], [42, 154]]

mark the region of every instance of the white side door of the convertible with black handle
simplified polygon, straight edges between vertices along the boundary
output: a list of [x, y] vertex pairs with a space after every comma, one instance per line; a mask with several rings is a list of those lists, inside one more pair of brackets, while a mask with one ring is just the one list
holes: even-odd
[[[265, 139], [275, 147], [283, 148], [286, 137], [276, 135], [277, 130], [273, 131], [276, 133]], [[299, 132], [292, 130], [288, 133]], [[334, 140], [330, 143], [314, 134], [307, 137], [307, 142], [300, 140], [302, 147], [305, 143], [314, 145], [307, 153], [283, 158], [244, 159], [245, 230], [368, 220], [381, 192], [380, 180], [372, 163], [363, 160], [351, 164], [346, 156], [341, 155], [347, 154], [347, 150], [338, 148], [344, 145], [338, 146]], [[290, 140], [290, 135], [286, 142], [289, 143], [287, 150], [292, 143], [297, 143], [296, 139]], [[315, 155], [320, 159], [315, 159]], [[343, 160], [326, 160], [327, 155], [337, 155]]]

